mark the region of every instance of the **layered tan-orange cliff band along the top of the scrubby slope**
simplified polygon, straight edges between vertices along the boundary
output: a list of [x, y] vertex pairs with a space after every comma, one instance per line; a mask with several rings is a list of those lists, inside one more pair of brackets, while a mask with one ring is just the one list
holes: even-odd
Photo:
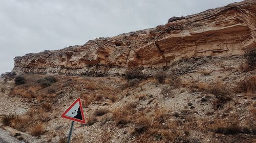
[[246, 49], [256, 47], [256, 1], [253, 0], [168, 21], [161, 28], [17, 56], [14, 70], [122, 74], [131, 67], [162, 68], [190, 58], [241, 55]]

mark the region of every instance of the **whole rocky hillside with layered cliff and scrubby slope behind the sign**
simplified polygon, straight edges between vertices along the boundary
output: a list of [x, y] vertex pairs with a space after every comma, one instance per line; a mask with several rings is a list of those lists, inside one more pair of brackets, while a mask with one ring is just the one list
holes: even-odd
[[0, 127], [66, 142], [61, 114], [81, 98], [71, 142], [256, 142], [255, 27], [249, 0], [16, 57], [0, 78]]

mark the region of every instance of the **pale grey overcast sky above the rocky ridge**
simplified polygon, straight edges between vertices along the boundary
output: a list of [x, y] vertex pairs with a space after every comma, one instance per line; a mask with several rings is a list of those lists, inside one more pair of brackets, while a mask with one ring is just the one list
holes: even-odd
[[0, 0], [0, 73], [30, 52], [82, 45], [239, 0]]

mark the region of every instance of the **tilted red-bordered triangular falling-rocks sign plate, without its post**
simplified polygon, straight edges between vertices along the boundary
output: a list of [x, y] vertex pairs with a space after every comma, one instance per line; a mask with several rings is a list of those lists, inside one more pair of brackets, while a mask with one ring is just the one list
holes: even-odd
[[62, 118], [66, 118], [72, 121], [86, 123], [83, 116], [82, 104], [80, 98], [77, 98], [74, 103], [61, 115]]

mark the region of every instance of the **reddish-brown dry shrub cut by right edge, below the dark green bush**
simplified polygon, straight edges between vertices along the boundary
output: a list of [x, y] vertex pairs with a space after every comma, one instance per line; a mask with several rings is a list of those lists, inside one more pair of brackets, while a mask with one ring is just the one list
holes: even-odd
[[240, 80], [234, 91], [237, 93], [256, 93], [256, 75]]

